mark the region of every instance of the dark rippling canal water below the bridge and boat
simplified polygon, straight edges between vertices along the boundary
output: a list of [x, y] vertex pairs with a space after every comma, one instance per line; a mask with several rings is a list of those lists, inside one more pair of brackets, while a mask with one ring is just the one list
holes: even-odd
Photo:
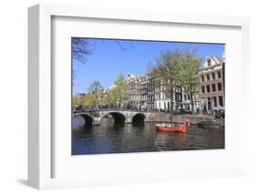
[[72, 154], [105, 154], [224, 148], [224, 129], [190, 125], [187, 133], [161, 132], [155, 123], [114, 124], [106, 118], [100, 126], [73, 120]]

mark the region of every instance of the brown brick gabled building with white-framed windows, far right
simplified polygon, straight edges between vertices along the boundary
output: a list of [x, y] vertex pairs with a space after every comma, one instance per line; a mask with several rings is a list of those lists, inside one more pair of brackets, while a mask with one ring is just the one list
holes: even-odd
[[200, 109], [203, 111], [225, 107], [224, 64], [225, 56], [207, 56], [200, 70]]

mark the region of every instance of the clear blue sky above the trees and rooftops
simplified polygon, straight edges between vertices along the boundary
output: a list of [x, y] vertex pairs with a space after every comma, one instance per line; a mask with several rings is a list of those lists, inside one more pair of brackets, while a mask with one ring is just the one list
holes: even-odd
[[157, 42], [135, 40], [91, 39], [87, 42], [93, 53], [87, 56], [85, 64], [73, 59], [74, 86], [73, 94], [87, 92], [90, 83], [98, 80], [103, 87], [110, 87], [118, 75], [128, 73], [145, 75], [148, 62], [155, 62], [161, 51], [179, 49], [198, 49], [198, 56], [221, 57], [223, 44], [200, 44], [180, 42]]

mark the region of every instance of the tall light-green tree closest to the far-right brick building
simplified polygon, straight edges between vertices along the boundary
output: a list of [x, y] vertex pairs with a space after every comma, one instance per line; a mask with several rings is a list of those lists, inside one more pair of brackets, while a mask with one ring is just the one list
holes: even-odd
[[198, 92], [198, 88], [200, 86], [200, 62], [201, 59], [197, 57], [196, 49], [191, 51], [187, 49], [182, 52], [182, 58], [179, 64], [179, 83], [190, 99], [192, 114], [195, 113], [195, 95]]

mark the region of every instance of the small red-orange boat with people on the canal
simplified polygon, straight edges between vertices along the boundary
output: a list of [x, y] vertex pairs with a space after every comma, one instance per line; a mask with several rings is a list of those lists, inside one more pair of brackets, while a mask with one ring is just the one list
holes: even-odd
[[[187, 123], [189, 126], [189, 119], [187, 119]], [[156, 124], [155, 127], [160, 131], [169, 131], [169, 132], [187, 132], [186, 121], [183, 122], [182, 125], [174, 126], [174, 124]]]

